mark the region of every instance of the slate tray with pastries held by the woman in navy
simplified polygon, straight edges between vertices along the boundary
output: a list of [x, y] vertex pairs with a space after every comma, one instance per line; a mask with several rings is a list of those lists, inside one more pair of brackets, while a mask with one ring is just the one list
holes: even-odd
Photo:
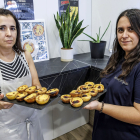
[[73, 111], [78, 111], [91, 101], [98, 99], [106, 92], [104, 85], [94, 84], [93, 82], [85, 82], [76, 90], [72, 90], [69, 94], [61, 95], [59, 104], [66, 106]]

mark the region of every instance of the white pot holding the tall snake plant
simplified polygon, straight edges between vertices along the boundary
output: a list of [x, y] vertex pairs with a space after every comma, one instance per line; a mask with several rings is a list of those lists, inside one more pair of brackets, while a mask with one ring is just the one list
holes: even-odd
[[70, 49], [61, 48], [61, 61], [64, 62], [73, 61], [73, 48]]

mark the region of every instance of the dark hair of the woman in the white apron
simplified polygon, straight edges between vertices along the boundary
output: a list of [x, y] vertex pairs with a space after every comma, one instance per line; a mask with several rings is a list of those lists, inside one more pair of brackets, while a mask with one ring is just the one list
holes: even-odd
[[3, 9], [3, 8], [0, 8], [0, 16], [11, 16], [11, 17], [13, 17], [13, 19], [16, 22], [16, 29], [17, 29], [17, 38], [16, 38], [16, 43], [13, 46], [13, 49], [18, 54], [20, 54], [20, 52], [24, 52], [24, 50], [22, 49], [22, 46], [21, 46], [21, 41], [20, 41], [20, 24], [19, 24], [16, 16], [11, 11], [9, 11], [7, 9]]

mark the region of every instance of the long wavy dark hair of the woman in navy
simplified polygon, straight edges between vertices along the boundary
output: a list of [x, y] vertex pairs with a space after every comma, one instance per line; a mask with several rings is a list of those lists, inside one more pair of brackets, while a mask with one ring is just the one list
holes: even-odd
[[[101, 77], [104, 77], [115, 71], [118, 63], [124, 58], [125, 51], [121, 48], [117, 39], [117, 25], [119, 19], [126, 16], [129, 19], [131, 27], [137, 33], [140, 38], [140, 10], [139, 9], [128, 9], [123, 11], [116, 22], [116, 38], [113, 42], [113, 54], [110, 57], [110, 61], [105, 69], [100, 73]], [[122, 73], [118, 78], [125, 79], [133, 67], [140, 62], [140, 41], [137, 46], [127, 55], [127, 59], [122, 63]]]

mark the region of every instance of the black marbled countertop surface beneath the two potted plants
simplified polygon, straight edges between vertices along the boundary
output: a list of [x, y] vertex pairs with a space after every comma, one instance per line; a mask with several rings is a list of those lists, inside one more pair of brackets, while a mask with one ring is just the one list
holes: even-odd
[[103, 59], [91, 59], [90, 53], [74, 55], [74, 60], [70, 62], [62, 62], [60, 57], [50, 60], [36, 62], [35, 67], [39, 78], [68, 73], [82, 68], [97, 68], [102, 70], [105, 68], [109, 57], [104, 56]]

